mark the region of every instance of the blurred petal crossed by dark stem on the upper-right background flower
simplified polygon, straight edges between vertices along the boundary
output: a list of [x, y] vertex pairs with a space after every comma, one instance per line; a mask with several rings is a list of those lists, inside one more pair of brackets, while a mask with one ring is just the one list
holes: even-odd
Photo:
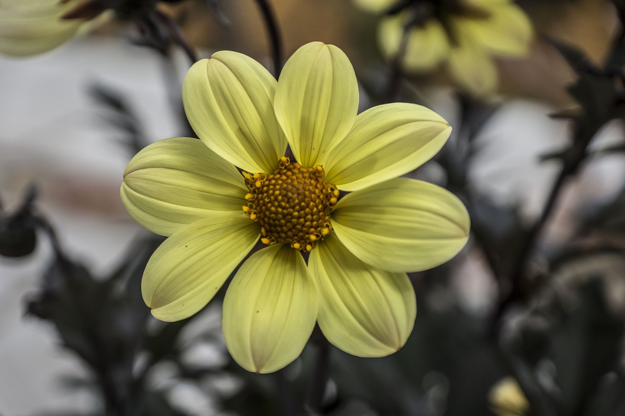
[[[382, 19], [378, 28], [378, 42], [382, 56], [395, 59], [406, 23], [406, 13]], [[434, 19], [421, 27], [412, 28], [407, 34], [406, 51], [402, 64], [407, 71], [430, 71], [449, 55], [449, 41], [441, 24]]]

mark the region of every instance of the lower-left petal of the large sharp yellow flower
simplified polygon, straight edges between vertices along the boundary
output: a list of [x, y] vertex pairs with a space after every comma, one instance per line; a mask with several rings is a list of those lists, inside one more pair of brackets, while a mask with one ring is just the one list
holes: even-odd
[[154, 251], [141, 280], [154, 317], [172, 322], [202, 309], [260, 237], [241, 214], [215, 213], [189, 224]]

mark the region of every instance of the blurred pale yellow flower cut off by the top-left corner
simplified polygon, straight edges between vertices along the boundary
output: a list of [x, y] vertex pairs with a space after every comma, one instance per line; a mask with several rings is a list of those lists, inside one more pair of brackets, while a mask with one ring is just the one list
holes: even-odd
[[86, 1], [0, 0], [0, 53], [25, 56], [60, 46], [89, 26], [62, 18]]

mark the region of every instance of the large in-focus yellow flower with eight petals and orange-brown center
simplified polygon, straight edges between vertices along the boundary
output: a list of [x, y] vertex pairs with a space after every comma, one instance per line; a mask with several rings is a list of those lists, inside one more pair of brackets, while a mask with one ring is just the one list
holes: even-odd
[[226, 345], [242, 367], [281, 369], [315, 322], [350, 354], [401, 348], [416, 316], [406, 272], [450, 259], [469, 230], [450, 192], [397, 178], [439, 151], [447, 122], [405, 103], [356, 115], [354, 69], [321, 42], [298, 49], [279, 81], [250, 57], [216, 52], [189, 69], [183, 101], [201, 141], [146, 147], [121, 186], [131, 216], [169, 235], [143, 275], [153, 315], [195, 314], [260, 239], [223, 304]]

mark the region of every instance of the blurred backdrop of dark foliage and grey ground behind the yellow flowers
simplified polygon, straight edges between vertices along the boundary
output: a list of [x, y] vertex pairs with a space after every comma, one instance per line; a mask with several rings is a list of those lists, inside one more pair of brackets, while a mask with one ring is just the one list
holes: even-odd
[[[311, 387], [323, 352], [315, 335], [279, 374], [247, 374], [221, 339], [219, 296], [168, 325], [143, 304], [137, 284], [160, 240], [126, 214], [119, 185], [138, 149], [192, 134], [183, 48], [154, 47], [132, 19], [111, 16], [52, 51], [0, 54], [0, 230], [32, 210], [56, 235], [37, 222], [36, 237], [24, 231], [31, 253], [0, 255], [0, 415], [625, 415], [625, 129], [622, 116], [600, 117], [580, 145], [580, 114], [608, 93], [590, 84], [597, 97], [581, 102], [567, 89], [582, 71], [571, 50], [585, 56], [584, 74], [610, 60], [617, 6], [517, 4], [534, 37], [525, 56], [496, 59], [493, 96], [458, 91], [444, 71], [402, 74], [394, 101], [423, 104], [454, 128], [410, 176], [456, 192], [472, 236], [451, 262], [411, 275], [419, 313], [406, 346], [383, 359], [332, 348], [321, 393]], [[361, 110], [384, 100], [394, 68], [378, 49], [379, 14], [347, 0], [271, 6], [282, 59], [309, 41], [336, 44], [359, 77]], [[257, 2], [156, 7], [200, 57], [234, 50], [271, 70]], [[624, 79], [608, 76], [614, 102], [625, 101]], [[562, 182], [523, 280], [506, 280], [569, 147], [584, 163]], [[315, 394], [317, 409], [302, 409]]]

